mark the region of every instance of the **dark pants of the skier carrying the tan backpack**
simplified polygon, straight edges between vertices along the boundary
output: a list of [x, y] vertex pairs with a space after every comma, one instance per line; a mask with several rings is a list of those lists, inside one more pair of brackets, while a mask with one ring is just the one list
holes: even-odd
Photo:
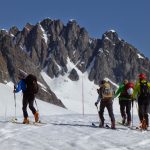
[[101, 122], [104, 122], [104, 109], [105, 109], [105, 107], [108, 110], [108, 114], [109, 114], [109, 117], [111, 119], [111, 122], [115, 122], [112, 100], [101, 100], [101, 102], [100, 102], [100, 111], [99, 111]]

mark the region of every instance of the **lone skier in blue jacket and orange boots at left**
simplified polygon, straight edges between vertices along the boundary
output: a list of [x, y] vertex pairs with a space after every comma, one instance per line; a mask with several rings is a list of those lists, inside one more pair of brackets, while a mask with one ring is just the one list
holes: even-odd
[[23, 92], [23, 124], [29, 124], [27, 105], [29, 104], [29, 108], [34, 114], [35, 122], [39, 120], [39, 114], [33, 106], [35, 94], [38, 92], [38, 84], [37, 79], [34, 75], [29, 74], [26, 78], [20, 78], [20, 81], [17, 87], [14, 89], [15, 93], [19, 91]]

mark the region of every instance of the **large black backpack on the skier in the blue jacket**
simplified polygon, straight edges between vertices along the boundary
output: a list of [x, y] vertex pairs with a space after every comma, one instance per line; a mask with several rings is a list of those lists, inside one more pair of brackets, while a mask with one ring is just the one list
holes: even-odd
[[37, 83], [37, 78], [36, 76], [29, 74], [25, 78], [25, 83], [26, 83], [26, 92], [30, 94], [36, 94], [38, 93], [38, 83]]

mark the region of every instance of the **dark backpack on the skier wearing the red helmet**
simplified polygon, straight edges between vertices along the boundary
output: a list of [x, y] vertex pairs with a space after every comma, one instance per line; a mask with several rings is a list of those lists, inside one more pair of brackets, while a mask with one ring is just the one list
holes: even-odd
[[146, 82], [140, 82], [140, 96], [147, 98], [150, 96], [150, 90]]

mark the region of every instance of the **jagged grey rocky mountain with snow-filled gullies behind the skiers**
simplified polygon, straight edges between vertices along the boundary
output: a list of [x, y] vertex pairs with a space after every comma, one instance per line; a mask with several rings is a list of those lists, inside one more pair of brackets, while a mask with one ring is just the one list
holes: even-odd
[[[80, 94], [76, 94], [84, 94], [87, 99], [86, 91], [81, 92], [86, 89], [82, 90], [82, 81], [83, 84], [93, 82], [89, 91], [105, 77], [115, 83], [125, 78], [134, 81], [140, 72], [148, 74], [148, 70], [149, 59], [114, 30], [95, 39], [75, 20], [64, 25], [60, 20], [49, 18], [36, 25], [27, 23], [21, 31], [15, 26], [8, 31], [0, 30], [0, 82], [16, 84], [20, 72], [33, 73], [38, 77], [39, 85], [43, 85], [37, 97], [61, 107], [65, 107], [61, 100], [64, 102], [67, 94], [62, 99], [58, 89], [63, 85], [51, 85], [51, 82], [55, 85], [57, 78], [65, 80], [65, 86], [68, 86], [67, 82], [80, 85]], [[41, 72], [49, 76], [49, 84]], [[73, 86], [71, 90], [75, 92]]]

